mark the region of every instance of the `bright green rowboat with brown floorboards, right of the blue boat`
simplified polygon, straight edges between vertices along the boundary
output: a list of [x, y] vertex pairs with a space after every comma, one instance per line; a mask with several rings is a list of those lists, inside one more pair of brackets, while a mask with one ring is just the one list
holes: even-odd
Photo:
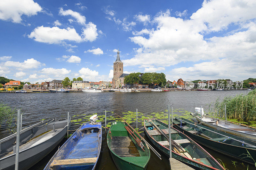
[[150, 159], [148, 145], [125, 122], [113, 122], [107, 144], [118, 169], [145, 170]]

